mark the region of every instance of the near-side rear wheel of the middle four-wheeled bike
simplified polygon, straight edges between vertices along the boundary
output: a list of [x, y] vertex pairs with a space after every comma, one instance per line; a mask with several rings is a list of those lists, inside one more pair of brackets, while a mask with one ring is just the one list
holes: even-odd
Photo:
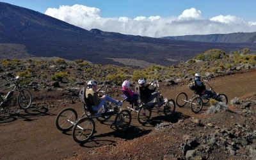
[[137, 120], [140, 124], [147, 124], [152, 114], [152, 109], [150, 107], [142, 107], [139, 109], [137, 114]]

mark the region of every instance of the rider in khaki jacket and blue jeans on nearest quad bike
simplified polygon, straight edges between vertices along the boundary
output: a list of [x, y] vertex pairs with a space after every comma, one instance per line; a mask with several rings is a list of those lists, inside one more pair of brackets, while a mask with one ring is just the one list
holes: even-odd
[[106, 104], [106, 101], [113, 102], [114, 104], [116, 104], [116, 106], [122, 105], [123, 103], [122, 101], [112, 99], [108, 95], [103, 95], [102, 97], [99, 97], [98, 92], [100, 88], [97, 90], [97, 84], [98, 83], [95, 80], [88, 81], [87, 83], [88, 88], [86, 89], [86, 92], [84, 95], [86, 99], [88, 99], [90, 104], [92, 104], [93, 111], [99, 111], [99, 109], [102, 108], [102, 105], [103, 105], [105, 112], [107, 112], [108, 105]]

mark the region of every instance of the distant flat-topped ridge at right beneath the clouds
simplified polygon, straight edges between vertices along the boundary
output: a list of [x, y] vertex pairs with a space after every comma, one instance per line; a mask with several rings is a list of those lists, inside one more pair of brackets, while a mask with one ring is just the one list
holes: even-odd
[[256, 32], [211, 35], [164, 36], [163, 38], [168, 40], [189, 40], [196, 42], [256, 43]]

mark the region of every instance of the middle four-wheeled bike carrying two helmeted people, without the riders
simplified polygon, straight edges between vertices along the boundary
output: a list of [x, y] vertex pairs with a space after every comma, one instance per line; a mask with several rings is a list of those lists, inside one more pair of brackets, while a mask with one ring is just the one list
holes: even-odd
[[[164, 106], [164, 115], [165, 116], [172, 116], [173, 113], [175, 112], [175, 101], [173, 99], [166, 99], [163, 97], [163, 95], [161, 94], [161, 92], [158, 90], [159, 88], [159, 83], [157, 80], [152, 79], [152, 81], [150, 82], [150, 84], [153, 86], [154, 84], [156, 84], [157, 86], [157, 90], [156, 92], [159, 93], [159, 101], [161, 102], [161, 105], [159, 108], [161, 108], [161, 106]], [[138, 84], [135, 86], [135, 92], [139, 95], [140, 97], [140, 88], [138, 86]], [[152, 115], [152, 109], [155, 108], [157, 101], [156, 98], [150, 102], [145, 102], [143, 99], [140, 98], [140, 106], [138, 107], [138, 110], [133, 109], [133, 103], [132, 103], [132, 107], [129, 108], [128, 106], [126, 106], [126, 108], [129, 108], [130, 111], [134, 111], [137, 113], [137, 120], [140, 124], [144, 125], [147, 124], [147, 122], [150, 120], [151, 115]], [[159, 109], [157, 108], [157, 109]], [[148, 115], [147, 115], [148, 112]], [[159, 113], [160, 111], [158, 110], [157, 113]], [[145, 117], [144, 117], [145, 116]]]

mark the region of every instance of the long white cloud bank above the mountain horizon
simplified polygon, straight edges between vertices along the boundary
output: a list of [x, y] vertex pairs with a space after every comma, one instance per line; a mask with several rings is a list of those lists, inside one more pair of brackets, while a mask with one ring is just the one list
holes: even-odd
[[232, 15], [202, 19], [202, 12], [196, 8], [184, 10], [178, 17], [150, 16], [130, 19], [101, 17], [99, 8], [75, 4], [48, 8], [45, 14], [87, 30], [97, 28], [126, 35], [161, 37], [256, 31], [256, 22], [246, 22]]

